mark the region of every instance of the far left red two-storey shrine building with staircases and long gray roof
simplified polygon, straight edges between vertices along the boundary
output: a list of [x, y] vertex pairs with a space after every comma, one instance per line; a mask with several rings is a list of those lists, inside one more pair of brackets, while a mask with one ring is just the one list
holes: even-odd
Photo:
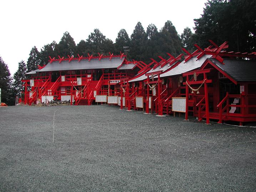
[[67, 100], [71, 105], [91, 105], [95, 95], [120, 92], [120, 79], [135, 76], [139, 70], [136, 64], [127, 61], [124, 54], [50, 57], [47, 65], [28, 72], [27, 79], [22, 80], [24, 103]]

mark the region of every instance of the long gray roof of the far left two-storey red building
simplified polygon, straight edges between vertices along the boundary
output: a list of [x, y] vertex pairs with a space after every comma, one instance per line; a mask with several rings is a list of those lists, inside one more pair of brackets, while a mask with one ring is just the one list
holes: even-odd
[[48, 63], [40, 72], [44, 71], [65, 71], [65, 70], [80, 70], [80, 69], [107, 69], [107, 68], [117, 68], [124, 61], [124, 57], [120, 59], [120, 57], [114, 57], [111, 60], [109, 58], [99, 59], [83, 59], [80, 62], [78, 60], [72, 61], [54, 61], [51, 64]]

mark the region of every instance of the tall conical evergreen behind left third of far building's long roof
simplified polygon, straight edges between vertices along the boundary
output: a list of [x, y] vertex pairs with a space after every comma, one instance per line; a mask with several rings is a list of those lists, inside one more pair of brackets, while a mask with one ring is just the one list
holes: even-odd
[[60, 57], [67, 58], [67, 55], [74, 55], [76, 52], [76, 44], [69, 32], [65, 32], [61, 37], [59, 44], [56, 45], [57, 54]]

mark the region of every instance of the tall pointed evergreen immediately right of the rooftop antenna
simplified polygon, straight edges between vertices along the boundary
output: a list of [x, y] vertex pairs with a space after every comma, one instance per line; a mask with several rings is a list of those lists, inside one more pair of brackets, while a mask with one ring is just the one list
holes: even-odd
[[146, 40], [146, 32], [144, 31], [141, 22], [137, 22], [137, 25], [131, 34], [130, 55], [132, 59], [142, 60], [144, 58], [143, 46], [145, 45]]

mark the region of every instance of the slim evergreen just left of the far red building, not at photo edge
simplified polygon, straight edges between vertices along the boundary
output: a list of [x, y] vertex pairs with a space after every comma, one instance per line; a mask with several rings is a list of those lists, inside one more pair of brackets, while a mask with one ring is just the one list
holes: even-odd
[[25, 74], [26, 74], [27, 68], [26, 64], [23, 60], [19, 62], [18, 70], [15, 72], [13, 79], [13, 87], [16, 91], [16, 94], [21, 96], [21, 92], [24, 90], [24, 87], [22, 86], [22, 79], [25, 79]]

